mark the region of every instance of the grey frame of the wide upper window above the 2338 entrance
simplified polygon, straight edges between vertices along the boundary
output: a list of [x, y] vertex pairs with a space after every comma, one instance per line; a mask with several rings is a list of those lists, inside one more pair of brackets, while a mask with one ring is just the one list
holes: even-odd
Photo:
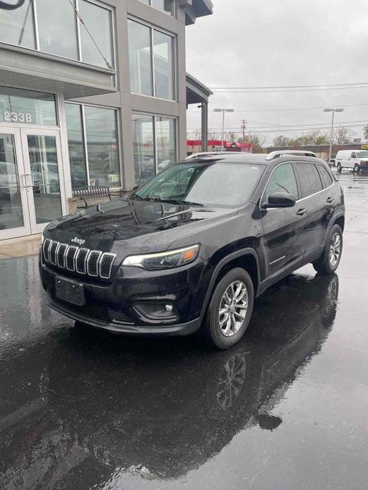
[[[78, 13], [79, 13], [79, 1], [80, 0], [71, 0], [73, 2], [73, 6], [76, 7]], [[112, 53], [112, 68], [116, 68], [116, 63], [115, 63], [115, 60], [116, 60], [116, 43], [115, 43], [115, 16], [114, 16], [114, 7], [112, 6], [109, 6], [107, 4], [102, 4], [100, 3], [99, 1], [97, 0], [84, 0], [86, 1], [87, 3], [89, 4], [94, 4], [100, 8], [105, 8], [105, 10], [109, 11], [109, 15], [110, 15], [110, 26], [111, 26], [111, 53]], [[70, 6], [71, 7], [71, 6]], [[11, 43], [8, 43], [8, 42], [4, 42], [4, 41], [0, 41], [0, 42], [3, 42], [4, 44], [8, 44], [9, 46], [16, 46], [16, 47], [20, 47], [22, 49], [30, 49], [30, 51], [35, 51], [35, 52], [39, 52], [39, 53], [44, 53], [44, 54], [47, 54], [49, 56], [55, 56], [56, 58], [61, 58], [61, 59], [66, 59], [66, 60], [70, 60], [70, 61], [78, 61], [80, 63], [83, 63], [83, 64], [86, 64], [88, 66], [93, 66], [93, 67], [96, 67], [96, 68], [107, 68], [109, 69], [107, 66], [105, 66], [105, 61], [104, 61], [104, 64], [102, 65], [93, 65], [93, 64], [90, 64], [86, 61], [83, 61], [83, 53], [82, 53], [82, 44], [81, 44], [81, 20], [79, 20], [79, 17], [76, 15], [75, 11], [73, 12], [74, 13], [74, 20], [75, 20], [75, 31], [73, 32], [73, 34], [76, 36], [76, 41], [77, 41], [77, 54], [78, 54], [78, 57], [76, 58], [69, 58], [68, 56], [62, 56], [60, 54], [53, 54], [53, 53], [49, 53], [49, 52], [46, 52], [46, 51], [42, 51], [42, 49], [40, 49], [40, 28], [39, 28], [39, 25], [38, 25], [38, 16], [37, 16], [37, 0], [32, 0], [32, 6], [31, 6], [31, 11], [32, 11], [32, 30], [33, 30], [33, 34], [34, 34], [34, 38], [35, 38], [35, 48], [32, 48], [32, 47], [25, 47], [25, 46], [21, 46], [19, 44], [11, 44]]]

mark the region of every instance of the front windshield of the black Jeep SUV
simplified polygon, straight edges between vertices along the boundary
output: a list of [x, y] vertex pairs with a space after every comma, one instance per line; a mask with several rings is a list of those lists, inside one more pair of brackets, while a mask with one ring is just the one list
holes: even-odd
[[237, 206], [249, 200], [263, 169], [263, 165], [244, 163], [180, 163], [158, 174], [131, 198]]

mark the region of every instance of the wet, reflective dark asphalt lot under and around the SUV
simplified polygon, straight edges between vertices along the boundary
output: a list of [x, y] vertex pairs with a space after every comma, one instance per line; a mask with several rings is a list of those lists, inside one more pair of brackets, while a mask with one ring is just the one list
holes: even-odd
[[74, 328], [37, 258], [0, 261], [0, 489], [367, 489], [368, 175], [338, 179], [336, 275], [269, 289], [226, 352]]

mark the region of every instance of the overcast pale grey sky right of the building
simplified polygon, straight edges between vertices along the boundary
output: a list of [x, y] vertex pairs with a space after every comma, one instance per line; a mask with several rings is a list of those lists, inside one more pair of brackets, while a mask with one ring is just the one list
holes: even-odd
[[[221, 114], [213, 113], [213, 108], [230, 107], [237, 112], [227, 114], [227, 131], [241, 131], [241, 120], [246, 119], [247, 130], [263, 134], [270, 144], [280, 134], [302, 134], [291, 131], [301, 125], [324, 128], [331, 122], [331, 114], [322, 109], [300, 108], [350, 106], [336, 114], [336, 124], [352, 126], [352, 136], [363, 136], [362, 125], [368, 123], [367, 0], [213, 0], [213, 4], [213, 16], [199, 18], [186, 28], [187, 71], [210, 88], [367, 85], [297, 92], [216, 92], [210, 98], [210, 130], [220, 132], [221, 126]], [[199, 127], [199, 112], [192, 105], [188, 132]]]

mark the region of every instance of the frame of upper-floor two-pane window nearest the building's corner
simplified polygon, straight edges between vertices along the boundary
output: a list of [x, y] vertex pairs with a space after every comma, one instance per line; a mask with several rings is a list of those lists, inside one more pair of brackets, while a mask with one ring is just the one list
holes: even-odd
[[[90, 1], [90, 0], [88, 0]], [[153, 7], [155, 8], [155, 7]], [[158, 10], [158, 9], [156, 9]], [[139, 92], [133, 92], [131, 90], [131, 93], [133, 95], [141, 95], [141, 97], [153, 97], [154, 99], [157, 100], [170, 100], [172, 102], [177, 102], [177, 96], [178, 96], [178, 88], [177, 88], [177, 35], [174, 34], [174, 32], [170, 32], [168, 30], [156, 27], [155, 25], [152, 25], [148, 22], [145, 22], [142, 19], [135, 18], [133, 16], [128, 16], [128, 21], [131, 20], [132, 22], [135, 22], [137, 24], [145, 25], [150, 29], [150, 63], [151, 63], [151, 71], [152, 71], [152, 76], [151, 76], [151, 83], [152, 83], [152, 93], [153, 95], [146, 95], [146, 94], [141, 94]], [[165, 99], [162, 97], [157, 97], [156, 96], [156, 87], [155, 87], [155, 56], [153, 53], [153, 31], [157, 32], [162, 32], [162, 34], [165, 34], [167, 36], [170, 36], [172, 39], [172, 99]], [[128, 39], [128, 44], [129, 44], [129, 39]], [[129, 76], [130, 76], [130, 60], [129, 60]], [[157, 114], [154, 114], [157, 115]], [[159, 115], [159, 114], [158, 114]]]

